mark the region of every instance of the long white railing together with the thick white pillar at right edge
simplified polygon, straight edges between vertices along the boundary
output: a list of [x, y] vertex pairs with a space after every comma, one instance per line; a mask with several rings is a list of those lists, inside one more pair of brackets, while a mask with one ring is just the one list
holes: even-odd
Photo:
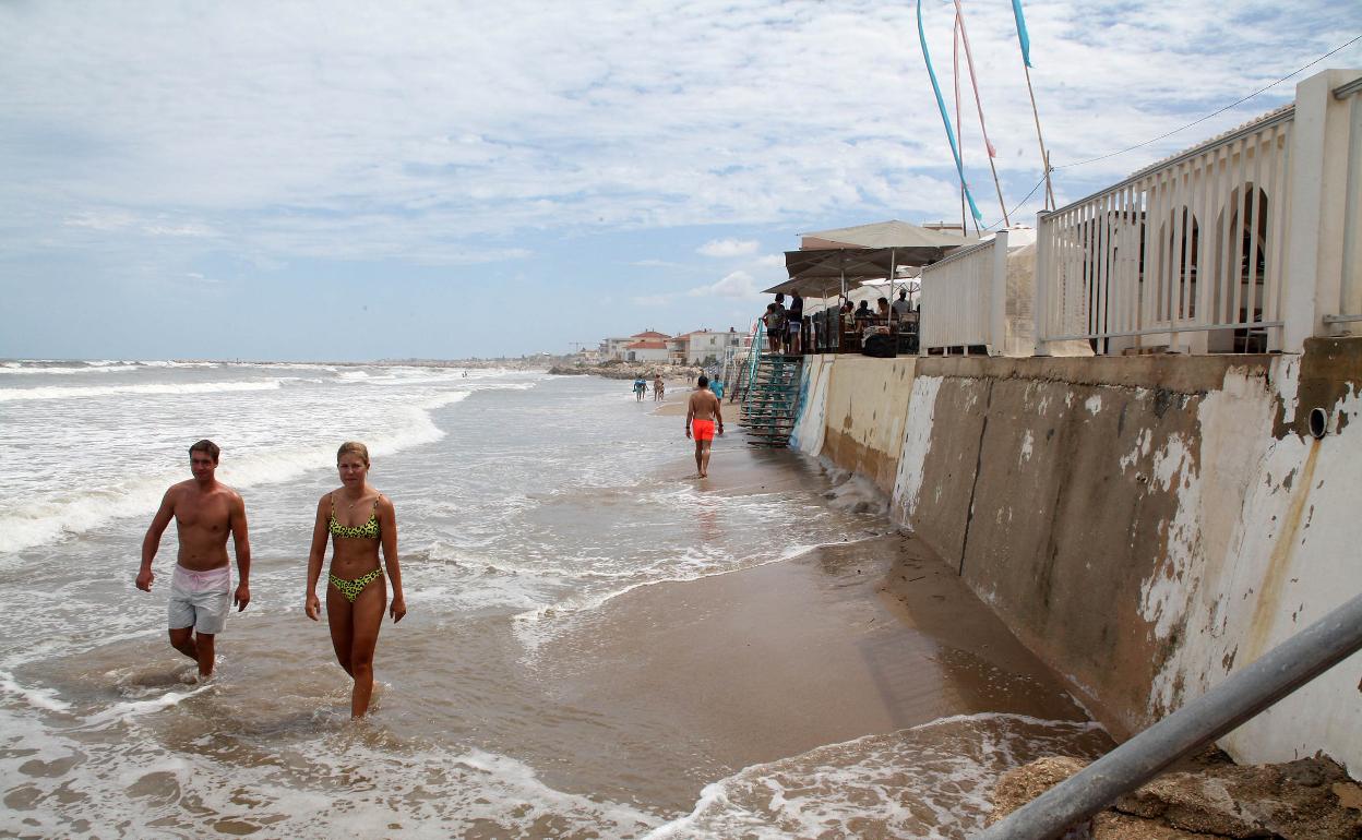
[[1362, 76], [1036, 223], [1035, 351], [1299, 353], [1362, 323]]

